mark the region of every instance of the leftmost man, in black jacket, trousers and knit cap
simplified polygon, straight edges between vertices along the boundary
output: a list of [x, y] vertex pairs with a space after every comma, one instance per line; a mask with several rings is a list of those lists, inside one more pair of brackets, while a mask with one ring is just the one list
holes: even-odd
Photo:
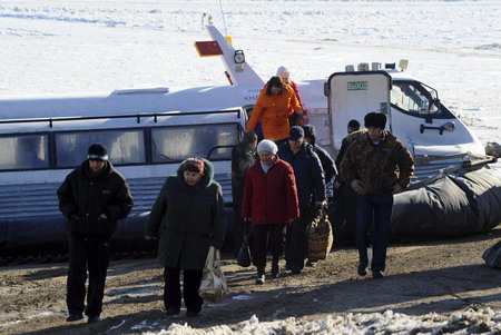
[[[117, 220], [132, 208], [127, 180], [108, 161], [104, 145], [89, 147], [88, 159], [71, 171], [58, 189], [59, 210], [67, 218], [69, 269], [67, 285], [68, 322], [100, 321], [109, 264], [109, 240]], [[87, 268], [89, 289], [86, 297]]]

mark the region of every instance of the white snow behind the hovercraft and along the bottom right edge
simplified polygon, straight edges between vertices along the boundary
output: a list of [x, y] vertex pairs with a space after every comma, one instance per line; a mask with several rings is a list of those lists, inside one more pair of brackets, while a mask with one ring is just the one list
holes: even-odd
[[[200, 59], [193, 47], [208, 39], [204, 16], [233, 37], [265, 80], [282, 65], [301, 81], [326, 78], [347, 63], [409, 59], [409, 71], [438, 89], [482, 142], [501, 142], [499, 0], [3, 0], [0, 95], [227, 85], [220, 60]], [[499, 324], [499, 315], [482, 313]], [[355, 319], [382, 333], [394, 333], [396, 323], [403, 334], [412, 329], [405, 325], [428, 322], [391, 313], [346, 317], [301, 332], [330, 333], [338, 324], [352, 327], [340, 333], [364, 333]], [[242, 325], [242, 333], [253, 333], [256, 323]], [[279, 323], [299, 327], [294, 319], [277, 321], [258, 333], [284, 329]], [[173, 327], [179, 334], [184, 326]]]

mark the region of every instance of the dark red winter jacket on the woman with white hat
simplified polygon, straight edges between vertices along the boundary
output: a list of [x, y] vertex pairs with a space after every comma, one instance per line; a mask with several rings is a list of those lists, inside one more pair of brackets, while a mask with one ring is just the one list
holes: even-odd
[[276, 156], [267, 174], [256, 161], [245, 179], [242, 217], [254, 224], [284, 224], [299, 216], [296, 179], [291, 165]]

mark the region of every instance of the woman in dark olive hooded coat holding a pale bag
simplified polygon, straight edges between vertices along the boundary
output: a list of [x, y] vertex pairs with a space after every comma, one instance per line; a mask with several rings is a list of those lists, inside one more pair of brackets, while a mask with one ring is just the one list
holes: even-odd
[[158, 260], [165, 267], [164, 304], [168, 315], [179, 314], [183, 298], [186, 315], [196, 316], [198, 295], [208, 249], [223, 246], [226, 218], [223, 193], [214, 179], [213, 165], [203, 158], [181, 162], [177, 176], [167, 177], [146, 225], [146, 238], [159, 238]]

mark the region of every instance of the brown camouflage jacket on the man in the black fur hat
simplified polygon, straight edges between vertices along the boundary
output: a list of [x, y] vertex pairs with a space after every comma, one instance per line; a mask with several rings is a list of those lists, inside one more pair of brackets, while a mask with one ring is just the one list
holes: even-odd
[[379, 145], [374, 145], [365, 132], [350, 146], [341, 162], [341, 175], [346, 185], [358, 179], [366, 195], [392, 191], [396, 184], [405, 189], [413, 171], [411, 154], [387, 130], [383, 130]]

